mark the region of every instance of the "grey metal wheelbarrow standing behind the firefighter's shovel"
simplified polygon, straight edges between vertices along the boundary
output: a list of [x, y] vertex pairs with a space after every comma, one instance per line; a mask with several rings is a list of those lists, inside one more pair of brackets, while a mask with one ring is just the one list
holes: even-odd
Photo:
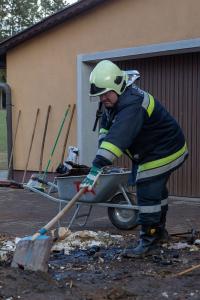
[[[85, 226], [91, 214], [92, 208], [96, 206], [107, 207], [108, 217], [111, 223], [121, 229], [129, 230], [137, 226], [138, 206], [133, 192], [128, 191], [127, 182], [131, 171], [123, 168], [111, 168], [105, 170], [99, 177], [98, 182], [91, 191], [85, 191], [76, 204], [76, 210], [69, 222], [71, 227], [75, 219], [84, 217], [84, 222], [79, 224]], [[80, 190], [80, 184], [85, 175], [57, 176], [53, 182], [40, 180], [45, 184], [45, 191], [31, 185], [25, 188], [40, 194], [50, 200], [61, 203], [70, 201]], [[80, 214], [80, 209], [88, 206], [87, 213]]]

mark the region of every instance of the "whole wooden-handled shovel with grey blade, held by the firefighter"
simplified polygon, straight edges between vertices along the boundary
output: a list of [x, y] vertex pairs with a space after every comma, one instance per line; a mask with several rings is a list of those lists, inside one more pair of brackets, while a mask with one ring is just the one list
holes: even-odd
[[70, 210], [85, 191], [86, 188], [81, 189], [51, 221], [33, 236], [24, 237], [17, 243], [11, 267], [32, 271], [48, 271], [48, 259], [53, 240], [46, 233]]

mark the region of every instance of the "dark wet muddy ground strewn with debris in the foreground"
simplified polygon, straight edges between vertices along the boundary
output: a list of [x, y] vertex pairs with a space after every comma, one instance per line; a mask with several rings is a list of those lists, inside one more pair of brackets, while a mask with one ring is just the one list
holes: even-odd
[[0, 265], [0, 299], [200, 299], [200, 268], [177, 275], [200, 263], [198, 248], [160, 247], [143, 259], [126, 258], [123, 250], [132, 242], [130, 234], [108, 248], [93, 246], [68, 255], [53, 251], [48, 273], [13, 269], [11, 255]]

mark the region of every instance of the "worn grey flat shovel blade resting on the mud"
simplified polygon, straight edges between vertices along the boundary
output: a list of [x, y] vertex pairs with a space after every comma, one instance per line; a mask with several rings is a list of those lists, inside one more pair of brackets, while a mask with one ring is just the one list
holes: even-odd
[[11, 267], [31, 271], [48, 271], [48, 260], [52, 247], [52, 238], [39, 236], [21, 239], [16, 246]]

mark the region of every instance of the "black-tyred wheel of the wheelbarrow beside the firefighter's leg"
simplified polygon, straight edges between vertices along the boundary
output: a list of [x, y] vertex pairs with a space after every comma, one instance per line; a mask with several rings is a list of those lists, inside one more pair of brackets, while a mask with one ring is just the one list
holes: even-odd
[[[135, 196], [132, 193], [127, 193], [127, 196], [133, 205], [136, 205]], [[114, 204], [127, 204], [124, 195], [119, 193], [115, 195], [111, 202]], [[122, 209], [117, 207], [108, 207], [108, 217], [111, 223], [122, 230], [130, 230], [137, 226], [138, 210], [136, 209]]]

